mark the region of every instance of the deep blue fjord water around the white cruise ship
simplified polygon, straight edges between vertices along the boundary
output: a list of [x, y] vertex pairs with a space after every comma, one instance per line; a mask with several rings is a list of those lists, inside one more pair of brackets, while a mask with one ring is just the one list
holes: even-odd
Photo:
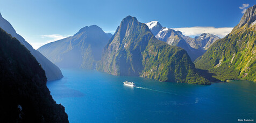
[[[62, 70], [47, 83], [70, 122], [237, 122], [256, 120], [256, 83], [231, 81], [200, 86]], [[137, 87], [127, 87], [124, 81]]]

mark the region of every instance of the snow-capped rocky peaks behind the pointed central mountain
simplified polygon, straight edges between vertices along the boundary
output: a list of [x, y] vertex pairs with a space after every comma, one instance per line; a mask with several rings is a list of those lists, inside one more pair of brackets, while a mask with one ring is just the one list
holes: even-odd
[[151, 21], [146, 25], [157, 39], [186, 50], [192, 61], [203, 55], [206, 49], [219, 39], [215, 35], [205, 33], [195, 38], [184, 36], [179, 30], [162, 27], [158, 21]]

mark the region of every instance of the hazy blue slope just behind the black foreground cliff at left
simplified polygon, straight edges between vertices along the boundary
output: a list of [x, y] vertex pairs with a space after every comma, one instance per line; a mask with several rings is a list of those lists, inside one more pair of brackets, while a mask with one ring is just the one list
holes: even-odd
[[22, 43], [27, 49], [30, 50], [32, 55], [37, 59], [37, 61], [42, 65], [42, 68], [45, 70], [48, 81], [63, 78], [60, 68], [54, 65], [46, 57], [44, 57], [39, 51], [34, 50], [33, 47], [29, 43], [27, 43], [25, 39], [23, 39], [22, 36], [16, 33], [12, 25], [2, 17], [1, 13], [0, 27], [4, 29], [7, 33], [11, 34], [13, 37], [16, 37], [16, 39], [18, 39], [20, 43]]

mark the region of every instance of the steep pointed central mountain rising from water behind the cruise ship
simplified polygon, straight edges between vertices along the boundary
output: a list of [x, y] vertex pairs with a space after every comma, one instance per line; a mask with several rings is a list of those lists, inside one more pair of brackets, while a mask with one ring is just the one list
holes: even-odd
[[97, 70], [159, 81], [210, 84], [198, 75], [187, 52], [154, 37], [135, 17], [124, 18], [106, 44]]

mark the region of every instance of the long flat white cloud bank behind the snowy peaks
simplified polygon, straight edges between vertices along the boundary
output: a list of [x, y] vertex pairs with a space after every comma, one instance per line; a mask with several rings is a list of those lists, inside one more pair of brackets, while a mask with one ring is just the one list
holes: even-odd
[[183, 27], [183, 28], [172, 28], [174, 30], [179, 30], [183, 35], [186, 36], [198, 36], [202, 33], [210, 33], [217, 35], [219, 37], [225, 37], [227, 34], [231, 32], [233, 27]]

